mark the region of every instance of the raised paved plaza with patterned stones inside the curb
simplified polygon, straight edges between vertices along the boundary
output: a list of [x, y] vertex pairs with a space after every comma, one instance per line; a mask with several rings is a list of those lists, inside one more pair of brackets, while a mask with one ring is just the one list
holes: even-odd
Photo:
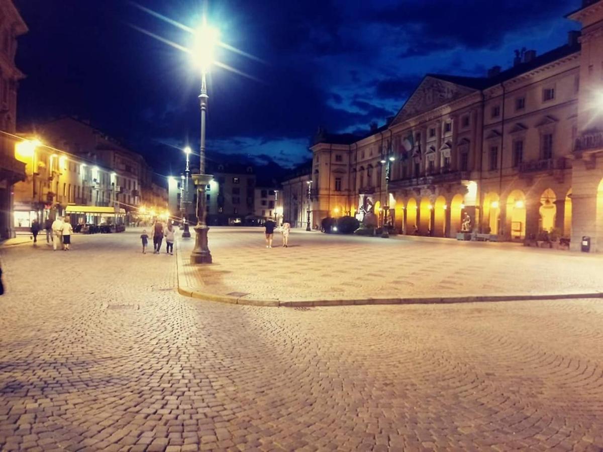
[[[194, 235], [194, 233], [193, 233]], [[262, 228], [212, 228], [211, 266], [191, 266], [183, 241], [180, 283], [251, 300], [556, 295], [603, 291], [603, 255], [516, 243], [357, 237], [294, 231], [289, 248]]]

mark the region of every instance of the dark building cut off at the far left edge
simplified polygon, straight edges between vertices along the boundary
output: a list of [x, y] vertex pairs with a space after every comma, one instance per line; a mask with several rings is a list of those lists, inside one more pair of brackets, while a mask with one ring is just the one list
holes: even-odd
[[17, 36], [27, 25], [11, 0], [0, 1], [0, 238], [14, 236], [13, 184], [25, 180], [25, 164], [14, 158], [17, 87], [24, 75], [14, 64]]

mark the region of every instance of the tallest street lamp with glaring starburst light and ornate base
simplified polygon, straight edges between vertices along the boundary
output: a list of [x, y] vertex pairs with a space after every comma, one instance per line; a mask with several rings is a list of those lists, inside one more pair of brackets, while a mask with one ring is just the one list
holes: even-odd
[[215, 29], [209, 27], [203, 18], [203, 25], [195, 35], [195, 49], [193, 55], [201, 69], [201, 94], [199, 95], [201, 105], [201, 145], [199, 152], [199, 174], [193, 174], [192, 179], [197, 186], [197, 225], [195, 226], [195, 248], [191, 253], [191, 263], [212, 263], [212, 254], [207, 246], [207, 231], [209, 228], [205, 222], [206, 196], [205, 190], [207, 184], [212, 180], [212, 176], [205, 174], [205, 117], [207, 113], [207, 83], [206, 75], [209, 67], [213, 63], [213, 48], [218, 42], [218, 33]]

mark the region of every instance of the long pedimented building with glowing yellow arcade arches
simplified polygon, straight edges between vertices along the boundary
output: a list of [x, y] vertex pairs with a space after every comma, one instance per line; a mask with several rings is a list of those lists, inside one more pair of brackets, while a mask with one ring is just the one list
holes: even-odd
[[569, 17], [581, 33], [510, 69], [426, 75], [365, 137], [319, 131], [312, 222], [374, 212], [400, 233], [456, 237], [469, 219], [499, 240], [546, 231], [603, 251], [603, 0]]

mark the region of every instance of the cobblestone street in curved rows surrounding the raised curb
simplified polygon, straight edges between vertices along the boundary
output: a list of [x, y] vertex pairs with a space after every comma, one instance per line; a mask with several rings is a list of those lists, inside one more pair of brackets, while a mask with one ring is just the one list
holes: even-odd
[[2, 250], [2, 451], [603, 448], [601, 301], [236, 306], [72, 241]]

